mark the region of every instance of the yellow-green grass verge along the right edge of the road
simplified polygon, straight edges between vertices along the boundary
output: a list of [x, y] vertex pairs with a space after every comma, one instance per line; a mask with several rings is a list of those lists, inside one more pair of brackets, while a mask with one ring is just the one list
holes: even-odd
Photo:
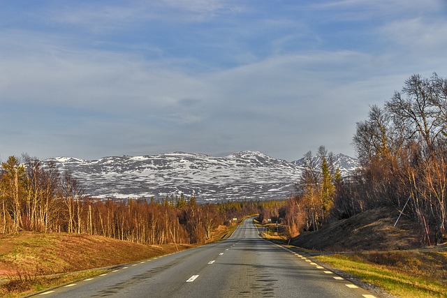
[[398, 297], [447, 297], [446, 253], [374, 251], [315, 258]]

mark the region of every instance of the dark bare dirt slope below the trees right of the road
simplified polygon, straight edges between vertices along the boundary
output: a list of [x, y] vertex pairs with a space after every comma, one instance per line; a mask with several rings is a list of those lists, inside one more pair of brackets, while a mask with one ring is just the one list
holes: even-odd
[[374, 209], [336, 221], [316, 232], [306, 232], [291, 244], [318, 251], [400, 250], [421, 246], [420, 228], [399, 213]]

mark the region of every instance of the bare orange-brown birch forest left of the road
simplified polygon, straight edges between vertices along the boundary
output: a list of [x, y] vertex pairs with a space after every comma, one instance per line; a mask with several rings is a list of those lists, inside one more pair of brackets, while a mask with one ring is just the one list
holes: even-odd
[[85, 233], [140, 244], [205, 243], [219, 225], [258, 214], [275, 201], [197, 204], [184, 195], [161, 199], [99, 200], [84, 194], [70, 170], [27, 154], [1, 164], [0, 232]]

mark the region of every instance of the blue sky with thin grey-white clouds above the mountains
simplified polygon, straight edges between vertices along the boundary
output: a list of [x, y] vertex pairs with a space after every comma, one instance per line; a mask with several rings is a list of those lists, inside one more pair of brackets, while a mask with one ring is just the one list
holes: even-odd
[[446, 0], [0, 2], [0, 160], [356, 156], [356, 122], [447, 77]]

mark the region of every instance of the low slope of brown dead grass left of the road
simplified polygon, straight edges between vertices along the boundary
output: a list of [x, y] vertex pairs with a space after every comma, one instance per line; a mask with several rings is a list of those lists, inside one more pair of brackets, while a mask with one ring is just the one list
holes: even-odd
[[[179, 245], [184, 250], [191, 245]], [[59, 274], [153, 258], [177, 251], [175, 244], [148, 246], [87, 234], [21, 232], [0, 236], [0, 277], [19, 271]]]

